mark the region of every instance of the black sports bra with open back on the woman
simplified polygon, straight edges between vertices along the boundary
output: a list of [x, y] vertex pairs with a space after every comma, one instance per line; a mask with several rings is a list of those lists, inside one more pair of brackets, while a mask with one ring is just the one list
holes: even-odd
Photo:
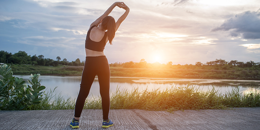
[[105, 45], [106, 45], [106, 39], [107, 39], [107, 32], [105, 32], [104, 37], [99, 42], [95, 42], [95, 41], [93, 41], [89, 38], [90, 31], [94, 27], [96, 27], [96, 26], [93, 25], [88, 30], [87, 37], [86, 37], [86, 40], [85, 40], [85, 48], [87, 48], [89, 50], [94, 50], [94, 51], [104, 51]]

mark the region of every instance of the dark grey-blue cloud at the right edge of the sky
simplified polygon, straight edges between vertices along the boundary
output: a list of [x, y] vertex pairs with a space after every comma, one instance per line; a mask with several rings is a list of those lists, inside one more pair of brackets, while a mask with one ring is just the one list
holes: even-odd
[[212, 31], [229, 31], [230, 35], [238, 37], [242, 35], [244, 39], [260, 38], [260, 9], [258, 11], [246, 11], [229, 18]]

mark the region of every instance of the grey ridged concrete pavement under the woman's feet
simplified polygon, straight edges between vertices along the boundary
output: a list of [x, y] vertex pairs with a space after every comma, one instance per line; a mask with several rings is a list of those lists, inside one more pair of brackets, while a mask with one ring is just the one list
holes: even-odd
[[[255, 130], [260, 126], [260, 107], [229, 110], [184, 110], [169, 113], [140, 109], [110, 110], [110, 130]], [[0, 111], [0, 130], [73, 130], [74, 110]], [[80, 128], [102, 130], [102, 110], [83, 109]], [[11, 122], [11, 124], [10, 124]]]

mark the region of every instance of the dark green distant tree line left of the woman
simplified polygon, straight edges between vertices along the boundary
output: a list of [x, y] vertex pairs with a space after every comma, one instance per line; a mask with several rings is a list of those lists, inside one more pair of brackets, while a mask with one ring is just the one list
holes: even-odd
[[66, 58], [61, 60], [58, 56], [56, 60], [50, 58], [44, 58], [43, 55], [28, 55], [25, 51], [19, 51], [18, 53], [8, 53], [7, 51], [0, 51], [0, 63], [11, 64], [26, 64], [26, 65], [41, 65], [41, 66], [58, 66], [58, 65], [71, 65], [71, 66], [84, 66], [84, 61], [80, 62], [80, 59], [69, 62]]

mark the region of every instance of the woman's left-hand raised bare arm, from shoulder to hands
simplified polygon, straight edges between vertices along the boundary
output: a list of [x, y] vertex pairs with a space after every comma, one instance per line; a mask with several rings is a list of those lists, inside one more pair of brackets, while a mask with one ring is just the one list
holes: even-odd
[[111, 11], [115, 8], [115, 6], [118, 6], [119, 8], [124, 8], [125, 4], [123, 4], [124, 2], [115, 2], [114, 4], [112, 4], [103, 15], [101, 15], [98, 19], [96, 19], [93, 23], [90, 24], [90, 27], [95, 25], [98, 26], [98, 24], [100, 23], [100, 21], [105, 18], [105, 16], [108, 16]]

